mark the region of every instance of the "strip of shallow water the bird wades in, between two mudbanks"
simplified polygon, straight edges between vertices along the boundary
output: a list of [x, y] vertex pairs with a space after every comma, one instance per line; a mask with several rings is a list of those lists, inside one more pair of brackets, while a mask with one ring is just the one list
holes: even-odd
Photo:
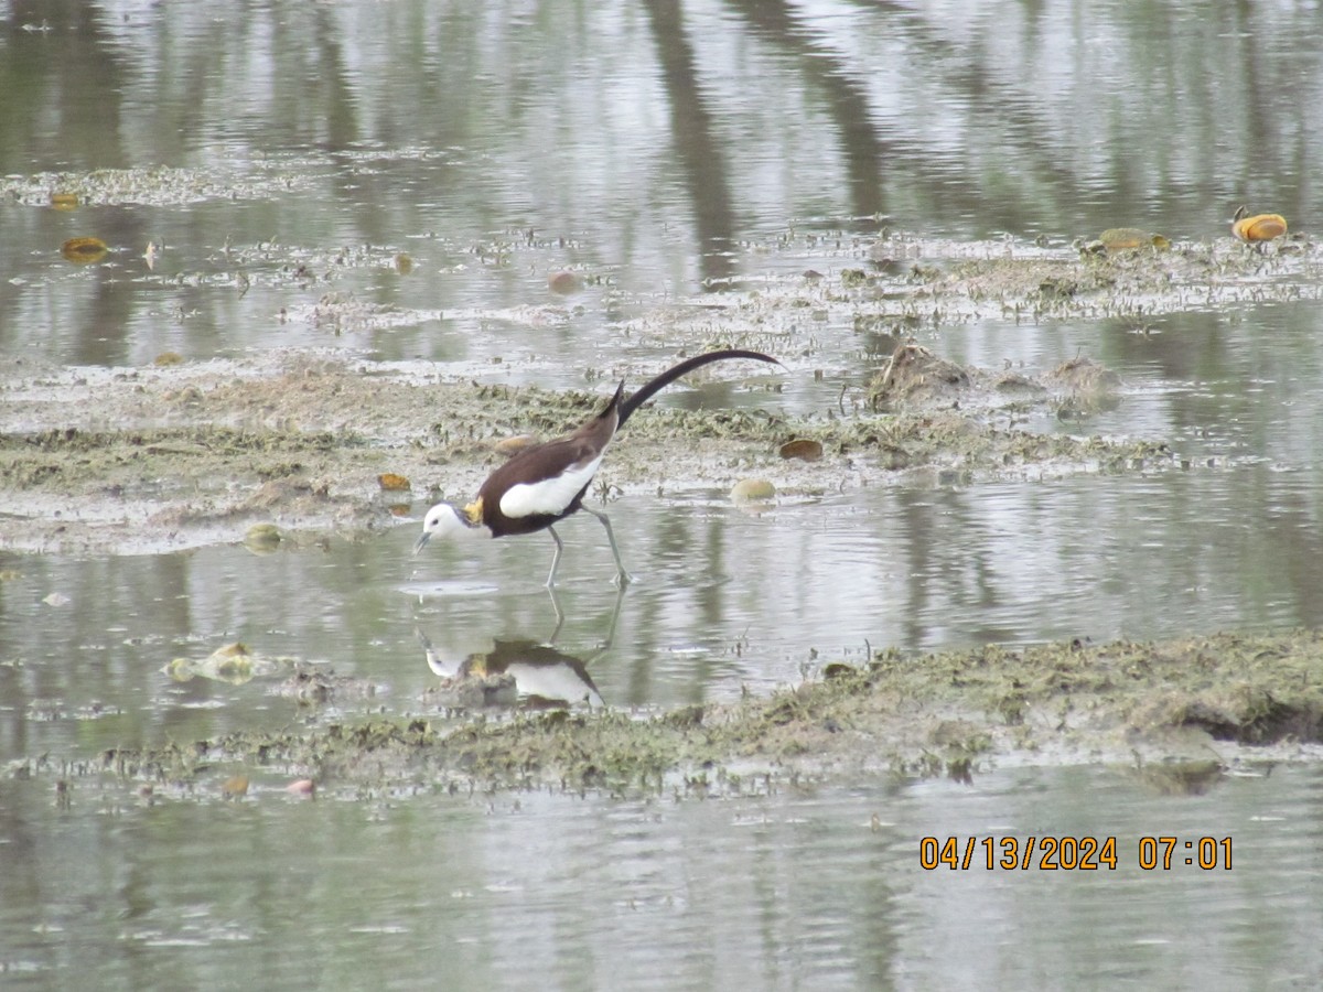
[[[437, 712], [419, 634], [442, 675], [496, 641], [554, 636], [606, 704], [667, 708], [762, 694], [885, 647], [1323, 623], [1310, 474], [1256, 464], [1102, 481], [868, 488], [761, 515], [724, 493], [627, 496], [611, 507], [635, 577], [623, 594], [586, 515], [560, 528], [554, 597], [542, 536], [418, 557], [414, 528], [321, 552], [24, 557], [0, 607], [0, 753], [278, 727], [299, 713], [270, 694], [295, 659], [377, 686], [323, 720]], [[1237, 515], [1242, 488], [1263, 513]], [[232, 641], [291, 661], [243, 685], [164, 671]]]

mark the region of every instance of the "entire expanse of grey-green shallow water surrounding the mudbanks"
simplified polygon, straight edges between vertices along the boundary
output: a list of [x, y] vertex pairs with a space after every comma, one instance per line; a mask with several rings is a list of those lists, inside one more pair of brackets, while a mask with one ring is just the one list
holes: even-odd
[[[909, 238], [904, 265], [1068, 253], [1119, 225], [1208, 241], [1241, 202], [1308, 230], [1320, 41], [1310, 4], [11, 0], [0, 348], [74, 366], [336, 348], [582, 388], [705, 343], [733, 292], [867, 265], [882, 227]], [[98, 169], [132, 172], [52, 208]], [[108, 258], [62, 259], [79, 235]], [[566, 270], [577, 290], [553, 292]], [[538, 655], [538, 676], [665, 708], [886, 645], [1319, 626], [1323, 308], [1238, 294], [914, 331], [983, 368], [1103, 362], [1119, 403], [1017, 426], [1160, 439], [1184, 467], [951, 466], [758, 516], [725, 492], [631, 491], [610, 507], [638, 577], [619, 598], [586, 517], [562, 528], [554, 603], [549, 540], [414, 559], [417, 522], [263, 557], [0, 549], [0, 984], [1319, 984], [1312, 765], [1200, 795], [1004, 768], [679, 804], [429, 783], [300, 802], [275, 780], [241, 803], [148, 800], [9, 774], [230, 729], [445, 718], [419, 634], [448, 671], [556, 631], [564, 657]], [[773, 331], [785, 392], [730, 402], [823, 414], [885, 358], [841, 312]], [[234, 640], [377, 692], [310, 709], [270, 693], [287, 668], [239, 685], [163, 671]], [[1122, 853], [1232, 836], [1236, 865], [917, 866], [922, 836], [1008, 833], [1113, 835]]]

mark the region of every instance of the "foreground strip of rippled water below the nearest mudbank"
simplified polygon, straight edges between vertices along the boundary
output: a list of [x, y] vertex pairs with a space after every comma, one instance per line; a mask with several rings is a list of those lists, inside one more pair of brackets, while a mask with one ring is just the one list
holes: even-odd
[[[1316, 767], [1193, 794], [1020, 768], [680, 804], [426, 786], [61, 804], [3, 780], [0, 970], [16, 988], [95, 970], [111, 989], [1308, 985], [1320, 790]], [[951, 836], [975, 840], [971, 866], [925, 869], [921, 840]], [[1117, 866], [986, 868], [984, 839], [999, 860], [1031, 836], [1114, 837]], [[1158, 836], [1174, 857], [1150, 848], [1146, 870]]]

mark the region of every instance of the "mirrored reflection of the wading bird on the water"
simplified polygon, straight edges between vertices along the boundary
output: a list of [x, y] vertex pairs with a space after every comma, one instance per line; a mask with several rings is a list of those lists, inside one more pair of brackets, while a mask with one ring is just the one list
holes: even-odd
[[431, 700], [448, 706], [602, 706], [602, 696], [587, 667], [611, 648], [615, 624], [624, 600], [622, 587], [615, 597], [606, 640], [589, 655], [577, 657], [554, 645], [565, 620], [554, 593], [556, 630], [546, 641], [492, 639], [490, 651], [475, 651], [462, 659], [445, 657], [427, 635], [417, 630], [427, 657], [427, 668], [442, 682], [427, 690]]

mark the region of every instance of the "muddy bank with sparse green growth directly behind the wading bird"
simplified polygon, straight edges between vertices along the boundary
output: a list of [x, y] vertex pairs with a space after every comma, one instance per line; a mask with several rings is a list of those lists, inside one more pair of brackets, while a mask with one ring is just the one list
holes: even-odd
[[[357, 538], [415, 520], [438, 497], [468, 497], [500, 460], [497, 440], [554, 436], [603, 402], [441, 381], [431, 369], [303, 352], [118, 370], [9, 360], [0, 546], [144, 553], [241, 541], [257, 524], [275, 524], [294, 545]], [[602, 492], [664, 497], [659, 479], [675, 492], [761, 476], [811, 497], [905, 474], [971, 481], [1179, 464], [1162, 442], [1033, 434], [988, 414], [1058, 409], [1080, 395], [1073, 384], [968, 369], [959, 384], [925, 385], [926, 365], [905, 369], [904, 381], [878, 386], [872, 409], [798, 418], [775, 413], [774, 394], [803, 373], [725, 369], [726, 382], [765, 392], [767, 409], [647, 410], [613, 446]], [[632, 382], [654, 372], [613, 370]], [[782, 459], [796, 438], [822, 443], [824, 458]], [[385, 489], [386, 474], [409, 488]]]

